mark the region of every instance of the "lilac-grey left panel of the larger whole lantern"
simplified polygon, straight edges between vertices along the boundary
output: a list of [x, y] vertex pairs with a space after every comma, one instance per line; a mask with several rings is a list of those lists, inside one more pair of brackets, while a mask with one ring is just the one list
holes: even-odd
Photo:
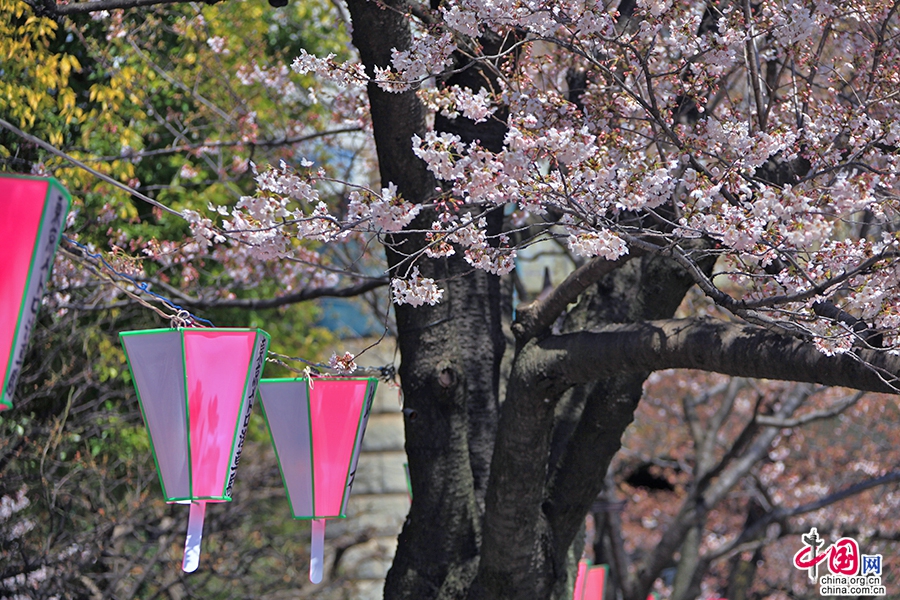
[[[190, 445], [181, 332], [175, 329], [120, 334], [134, 380], [141, 414], [147, 425], [153, 460], [166, 502], [191, 500]], [[146, 398], [144, 397], [146, 396]], [[166, 398], [170, 403], [147, 401]], [[165, 450], [157, 452], [157, 448]]]

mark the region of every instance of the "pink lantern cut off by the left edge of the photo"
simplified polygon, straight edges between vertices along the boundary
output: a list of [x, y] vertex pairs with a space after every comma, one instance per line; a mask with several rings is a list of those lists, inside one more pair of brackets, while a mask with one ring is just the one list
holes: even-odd
[[0, 411], [12, 408], [70, 201], [55, 179], [0, 176]]

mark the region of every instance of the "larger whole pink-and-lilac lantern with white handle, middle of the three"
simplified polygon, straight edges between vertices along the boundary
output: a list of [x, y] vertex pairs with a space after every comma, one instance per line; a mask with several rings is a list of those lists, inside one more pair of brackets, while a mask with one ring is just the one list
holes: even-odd
[[231, 502], [269, 335], [259, 329], [120, 333], [166, 502], [190, 504], [182, 569], [200, 564], [207, 502]]

